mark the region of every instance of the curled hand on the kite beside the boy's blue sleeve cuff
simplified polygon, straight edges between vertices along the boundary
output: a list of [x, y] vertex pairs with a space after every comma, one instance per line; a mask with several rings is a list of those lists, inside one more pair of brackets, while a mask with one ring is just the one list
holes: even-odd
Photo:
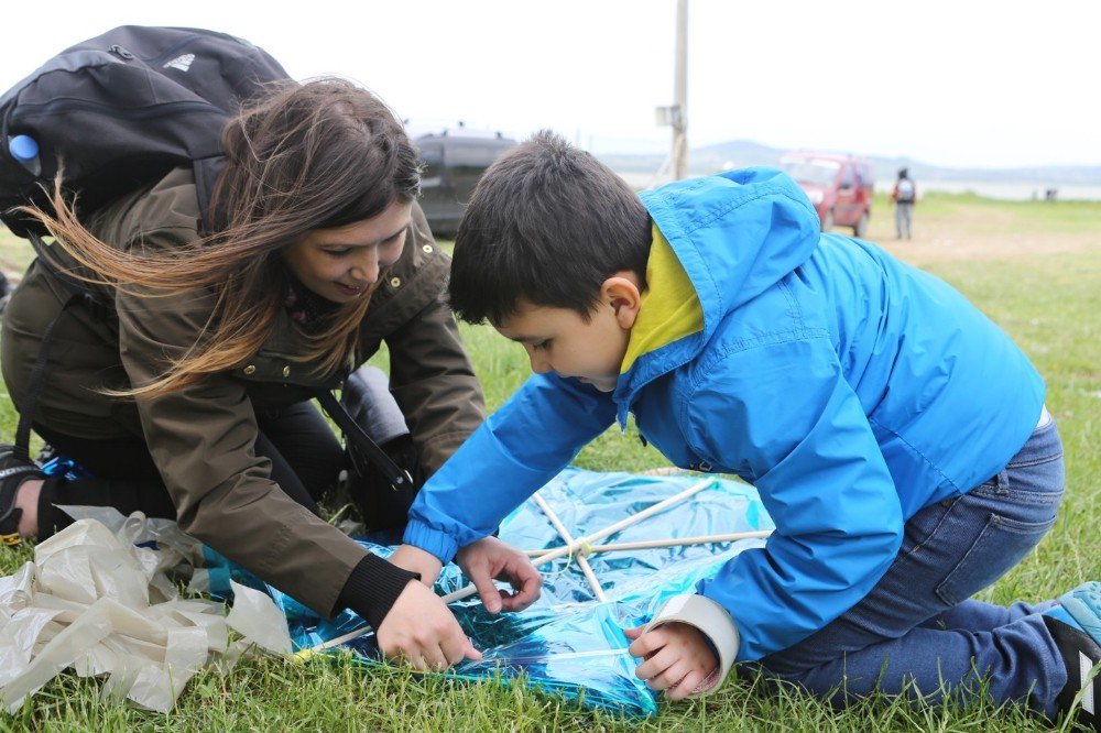
[[[497, 537], [483, 537], [461, 548], [455, 561], [478, 589], [482, 605], [490, 613], [523, 611], [539, 597], [543, 576], [523, 553]], [[493, 579], [505, 580], [512, 591], [503, 591]]]

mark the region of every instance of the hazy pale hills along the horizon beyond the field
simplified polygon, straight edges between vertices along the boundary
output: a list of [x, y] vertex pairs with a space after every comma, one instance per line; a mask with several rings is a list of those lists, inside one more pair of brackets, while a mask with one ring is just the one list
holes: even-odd
[[[770, 147], [750, 140], [731, 140], [694, 147], [688, 155], [689, 175], [707, 175], [727, 168], [750, 165], [776, 165], [786, 149]], [[835, 151], [837, 152], [837, 151]], [[840, 151], [847, 152], [847, 151]], [[894, 180], [901, 167], [924, 182], [989, 182], [1029, 185], [1101, 185], [1101, 166], [1033, 166], [1015, 168], [952, 168], [930, 165], [909, 157], [865, 156], [872, 162], [879, 182]], [[653, 174], [662, 165], [661, 155], [601, 155], [613, 171], [640, 175]]]

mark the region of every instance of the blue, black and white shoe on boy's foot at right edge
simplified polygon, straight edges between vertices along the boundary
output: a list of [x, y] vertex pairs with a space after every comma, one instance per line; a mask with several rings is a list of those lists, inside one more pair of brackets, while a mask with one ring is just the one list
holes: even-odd
[[1101, 731], [1101, 674], [1090, 675], [1101, 663], [1101, 583], [1082, 583], [1058, 602], [1044, 612], [1044, 623], [1067, 668], [1067, 686], [1056, 702], [1069, 713], [1075, 698], [1081, 696], [1078, 722]]

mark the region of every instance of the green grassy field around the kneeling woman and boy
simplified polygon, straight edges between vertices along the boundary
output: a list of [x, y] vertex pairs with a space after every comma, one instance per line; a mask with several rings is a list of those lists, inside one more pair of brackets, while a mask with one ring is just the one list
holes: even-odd
[[[869, 239], [967, 294], [1034, 360], [1048, 384], [1047, 404], [1067, 450], [1061, 518], [1040, 546], [984, 600], [1056, 595], [1101, 579], [1101, 204], [998, 203], [930, 195], [919, 203], [915, 239], [895, 242], [882, 201]], [[18, 269], [30, 248], [0, 237], [0, 264]], [[495, 407], [527, 375], [522, 349], [486, 327], [464, 328], [489, 405]], [[0, 397], [0, 434], [10, 440], [14, 415]], [[578, 464], [642, 470], [665, 464], [633, 430], [612, 430], [585, 449]], [[0, 553], [0, 573], [30, 557]], [[664, 704], [648, 721], [591, 712], [574, 702], [504, 685], [453, 683], [399, 668], [363, 669], [345, 658], [292, 664], [266, 659], [225, 676], [206, 671], [170, 714], [100, 703], [99, 683], [67, 675], [51, 682], [0, 730], [1048, 730], [1011, 709], [978, 704], [911, 709], [890, 699], [833, 711], [792, 692], [765, 690], [752, 676], [732, 678], [718, 693]], [[1067, 729], [1067, 725], [1064, 725]]]

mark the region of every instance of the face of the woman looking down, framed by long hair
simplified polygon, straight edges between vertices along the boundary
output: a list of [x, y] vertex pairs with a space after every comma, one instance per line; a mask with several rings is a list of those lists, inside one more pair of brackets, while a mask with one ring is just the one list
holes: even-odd
[[283, 261], [310, 291], [333, 303], [370, 293], [379, 273], [405, 247], [412, 201], [391, 201], [378, 216], [334, 229], [314, 229], [283, 249]]

